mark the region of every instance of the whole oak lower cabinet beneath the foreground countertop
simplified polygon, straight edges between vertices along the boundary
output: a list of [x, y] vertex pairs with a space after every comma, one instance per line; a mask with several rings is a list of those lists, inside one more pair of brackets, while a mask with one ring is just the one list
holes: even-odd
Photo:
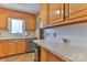
[[63, 62], [61, 57], [48, 52], [44, 47], [40, 47], [40, 62]]

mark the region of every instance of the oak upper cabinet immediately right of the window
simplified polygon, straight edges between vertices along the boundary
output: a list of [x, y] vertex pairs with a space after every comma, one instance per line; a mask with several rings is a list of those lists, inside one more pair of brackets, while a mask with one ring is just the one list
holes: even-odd
[[28, 15], [25, 18], [25, 30], [26, 31], [35, 31], [35, 15]]

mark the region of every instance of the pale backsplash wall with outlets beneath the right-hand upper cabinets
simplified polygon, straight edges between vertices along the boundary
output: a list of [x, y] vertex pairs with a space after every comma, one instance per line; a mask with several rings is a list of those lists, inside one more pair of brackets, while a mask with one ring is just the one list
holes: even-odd
[[67, 39], [69, 44], [87, 47], [87, 23], [45, 30], [45, 40], [63, 42], [62, 39]]

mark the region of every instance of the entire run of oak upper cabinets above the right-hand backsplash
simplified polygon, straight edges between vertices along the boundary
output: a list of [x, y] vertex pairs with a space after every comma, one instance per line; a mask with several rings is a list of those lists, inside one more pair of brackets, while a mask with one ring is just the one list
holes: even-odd
[[43, 23], [47, 20], [47, 26], [76, 24], [87, 20], [87, 3], [41, 4], [39, 17]]

